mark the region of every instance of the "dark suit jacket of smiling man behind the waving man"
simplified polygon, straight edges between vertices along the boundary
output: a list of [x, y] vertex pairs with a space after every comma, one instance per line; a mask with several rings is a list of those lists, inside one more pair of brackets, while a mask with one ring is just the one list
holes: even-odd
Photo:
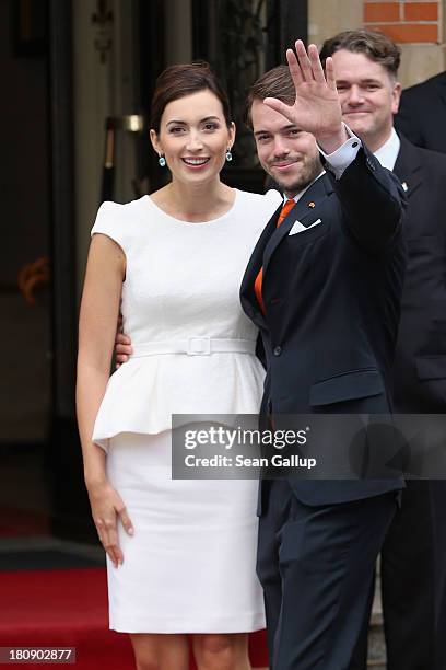
[[400, 140], [394, 172], [408, 186], [409, 207], [404, 218], [408, 273], [394, 365], [395, 412], [443, 414], [446, 409], [446, 157], [419, 149], [403, 136]]

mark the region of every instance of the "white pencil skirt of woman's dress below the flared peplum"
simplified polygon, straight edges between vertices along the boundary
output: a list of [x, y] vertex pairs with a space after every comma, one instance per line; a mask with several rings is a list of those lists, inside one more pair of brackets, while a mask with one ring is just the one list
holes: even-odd
[[[138, 463], [138, 467], [134, 467]], [[107, 558], [109, 621], [128, 633], [265, 627], [256, 577], [256, 481], [171, 480], [171, 432], [110, 441], [107, 473], [126, 501], [124, 563]]]

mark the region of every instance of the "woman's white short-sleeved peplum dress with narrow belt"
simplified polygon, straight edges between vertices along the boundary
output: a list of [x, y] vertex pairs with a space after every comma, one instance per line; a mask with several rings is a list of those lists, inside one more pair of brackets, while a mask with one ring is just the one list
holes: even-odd
[[[134, 351], [110, 377], [93, 432], [134, 527], [133, 536], [119, 528], [124, 564], [114, 568], [107, 558], [115, 631], [242, 633], [265, 626], [256, 576], [257, 482], [172, 480], [171, 429], [172, 414], [259, 409], [257, 331], [238, 291], [281, 201], [277, 192], [236, 190], [231, 210], [203, 223], [174, 219], [149, 196], [98, 210], [92, 234], [108, 235], [126, 254], [121, 312]], [[207, 338], [245, 344], [243, 351], [206, 346], [201, 355]]]

